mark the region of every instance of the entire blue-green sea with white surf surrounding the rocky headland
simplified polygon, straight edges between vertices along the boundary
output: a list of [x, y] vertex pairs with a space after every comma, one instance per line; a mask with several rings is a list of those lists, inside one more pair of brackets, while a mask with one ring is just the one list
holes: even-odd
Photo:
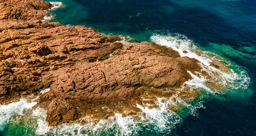
[[[44, 21], [85, 25], [101, 34], [127, 37], [131, 42], [155, 42], [172, 47], [181, 56], [198, 59], [215, 71], [226, 91], [193, 75], [184, 86], [201, 89], [190, 102], [171, 99], [159, 108], [137, 105], [144, 119], [115, 114], [108, 120], [49, 127], [46, 111], [32, 111], [38, 96], [0, 105], [0, 135], [256, 135], [256, 1], [255, 0], [57, 0]], [[188, 53], [183, 53], [186, 50]], [[201, 52], [200, 55], [196, 52]], [[225, 64], [231, 73], [209, 66]], [[31, 96], [32, 97], [32, 96]], [[86, 118], [86, 117], [85, 117]]]

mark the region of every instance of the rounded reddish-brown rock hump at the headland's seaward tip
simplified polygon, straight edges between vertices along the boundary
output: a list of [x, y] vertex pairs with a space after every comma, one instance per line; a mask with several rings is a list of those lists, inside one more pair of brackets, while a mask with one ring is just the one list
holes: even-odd
[[[132, 103], [132, 99], [141, 103], [141, 94], [136, 91], [138, 87], [178, 88], [191, 79], [187, 70], [195, 72], [201, 69], [197, 63], [195, 59], [181, 58], [178, 52], [155, 43], [127, 44], [117, 55], [104, 61], [81, 61], [76, 67], [61, 69], [61, 74], [50, 87], [51, 91], [40, 97], [39, 105], [47, 107], [56, 99], [65, 99], [82, 116], [102, 113], [98, 108], [103, 106], [123, 114], [125, 111], [116, 105], [120, 101]], [[92, 104], [98, 112], [91, 113], [97, 111], [91, 109]], [[117, 107], [121, 110], [115, 109]], [[126, 111], [133, 110], [138, 109], [131, 106]], [[102, 116], [107, 115], [111, 113]]]

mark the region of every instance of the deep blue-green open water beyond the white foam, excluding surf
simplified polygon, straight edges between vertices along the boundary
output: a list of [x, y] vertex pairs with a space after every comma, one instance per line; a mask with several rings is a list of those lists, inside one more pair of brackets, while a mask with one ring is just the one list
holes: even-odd
[[[52, 1], [48, 1], [52, 2]], [[64, 25], [86, 25], [135, 42], [154, 34], [182, 34], [202, 50], [243, 67], [250, 77], [241, 95], [204, 98], [196, 116], [187, 116], [168, 135], [256, 135], [256, 1], [249, 0], [59, 0], [51, 11]], [[236, 91], [236, 90], [231, 90]], [[139, 135], [161, 135], [151, 128]]]

